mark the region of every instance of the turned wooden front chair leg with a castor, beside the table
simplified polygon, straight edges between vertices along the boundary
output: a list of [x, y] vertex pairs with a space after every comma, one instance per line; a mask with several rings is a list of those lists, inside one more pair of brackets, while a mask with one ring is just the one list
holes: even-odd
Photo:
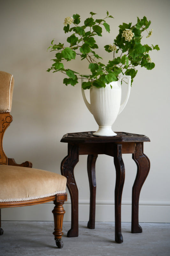
[[64, 201], [56, 202], [54, 201], [55, 207], [52, 211], [54, 215], [54, 239], [58, 248], [63, 247], [62, 235], [63, 235], [63, 217], [65, 210], [63, 208]]

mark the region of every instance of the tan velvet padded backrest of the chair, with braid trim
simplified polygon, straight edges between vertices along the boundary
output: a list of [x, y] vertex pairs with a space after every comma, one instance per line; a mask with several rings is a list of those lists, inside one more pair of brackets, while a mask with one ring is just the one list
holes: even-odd
[[13, 75], [0, 71], [0, 113], [11, 112], [13, 87]]

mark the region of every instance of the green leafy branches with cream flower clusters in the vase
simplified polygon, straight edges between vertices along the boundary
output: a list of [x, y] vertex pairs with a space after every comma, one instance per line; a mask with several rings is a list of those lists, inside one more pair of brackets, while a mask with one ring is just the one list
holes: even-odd
[[[137, 17], [137, 24], [132, 26], [132, 23], [123, 23], [119, 26], [119, 34], [116, 36], [114, 43], [105, 45], [106, 52], [112, 54], [112, 59], [107, 64], [101, 63], [102, 57], [99, 56], [95, 49], [98, 49], [95, 37], [102, 36], [102, 28], [104, 27], [110, 33], [110, 26], [106, 23], [107, 18], [113, 18], [107, 11], [107, 16], [104, 19], [93, 19], [96, 15], [90, 12], [91, 16], [84, 21], [84, 25], [80, 26], [80, 15], [74, 14], [73, 18], [67, 17], [64, 23], [64, 32], [73, 32], [68, 38], [67, 43], [69, 47], [64, 44], [54, 44], [54, 39], [48, 47], [50, 51], [57, 52], [53, 59], [53, 64], [48, 68], [48, 72], [62, 72], [67, 78], [64, 78], [63, 83], [68, 85], [75, 85], [78, 83], [78, 78], [84, 75], [64, 68], [64, 61], [75, 60], [80, 57], [81, 60], [88, 61], [88, 68], [91, 75], [84, 76], [86, 82], [82, 83], [83, 89], [89, 89], [91, 86], [105, 87], [105, 84], [117, 81], [120, 74], [130, 75], [131, 83], [137, 74], [136, 67], [139, 65], [148, 70], [155, 67], [151, 61], [149, 52], [152, 50], [159, 50], [158, 45], [141, 44], [142, 33], [147, 32], [151, 21], [148, 21], [144, 16], [143, 19]], [[70, 28], [71, 25], [71, 28]], [[147, 38], [152, 35], [152, 31], [147, 32]], [[119, 56], [117, 57], [119, 53]], [[89, 72], [90, 73], [90, 72]]]

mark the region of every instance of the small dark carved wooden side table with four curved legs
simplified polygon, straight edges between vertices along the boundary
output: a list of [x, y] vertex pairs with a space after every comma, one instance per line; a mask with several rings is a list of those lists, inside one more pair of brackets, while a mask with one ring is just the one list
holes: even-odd
[[138, 220], [139, 195], [150, 169], [150, 161], [143, 153], [143, 143], [150, 140], [145, 135], [127, 132], [116, 133], [117, 136], [112, 137], [96, 137], [93, 136], [93, 132], [67, 133], [61, 140], [61, 142], [68, 143], [68, 155], [61, 163], [61, 173], [67, 178], [67, 188], [69, 189], [71, 198], [71, 229], [67, 233], [68, 237], [78, 236], [78, 188], [74, 178], [74, 167], [78, 163], [79, 155], [88, 155], [87, 172], [90, 184], [90, 218], [87, 225], [88, 228], [95, 228], [95, 163], [97, 156], [99, 154], [105, 154], [114, 157], [116, 170], [115, 241], [122, 243], [121, 200], [125, 178], [122, 154], [132, 154], [132, 158], [137, 164], [137, 175], [132, 188], [131, 232], [142, 232]]

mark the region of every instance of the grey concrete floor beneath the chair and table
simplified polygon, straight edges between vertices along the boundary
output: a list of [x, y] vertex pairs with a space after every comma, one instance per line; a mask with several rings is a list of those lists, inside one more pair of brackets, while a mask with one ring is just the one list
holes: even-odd
[[141, 223], [143, 233], [131, 234], [131, 224], [122, 223], [123, 243], [114, 241], [113, 222], [96, 222], [88, 229], [79, 222], [79, 236], [67, 237], [70, 222], [63, 222], [62, 249], [55, 246], [51, 221], [2, 221], [0, 256], [169, 256], [170, 223]]

